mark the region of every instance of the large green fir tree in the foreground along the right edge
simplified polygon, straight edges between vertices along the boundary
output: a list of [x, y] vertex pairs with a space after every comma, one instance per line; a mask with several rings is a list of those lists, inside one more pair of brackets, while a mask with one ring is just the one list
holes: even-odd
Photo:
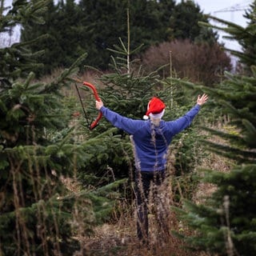
[[[251, 11], [250, 17], [253, 17], [255, 9]], [[232, 38], [237, 38], [239, 33], [239, 40], [246, 42], [244, 48], [253, 49], [254, 44], [250, 43], [256, 38], [251, 24], [242, 29], [229, 23], [229, 29], [225, 30]], [[246, 40], [248, 30], [251, 31], [250, 40]], [[224, 143], [205, 142], [208, 150], [230, 159], [230, 172], [205, 170], [204, 180], [213, 183], [216, 191], [203, 204], [186, 201], [184, 210], [176, 209], [182, 219], [196, 230], [194, 235], [185, 237], [186, 241], [194, 249], [211, 254], [252, 256], [256, 253], [256, 67], [250, 62], [255, 58], [252, 53], [245, 51], [239, 54], [247, 70], [250, 70], [250, 76], [226, 73], [226, 80], [213, 90], [182, 82], [184, 86], [208, 91], [217, 106], [221, 107], [222, 114], [230, 116], [228, 125], [233, 127], [232, 132], [206, 128], [210, 134], [222, 138]]]

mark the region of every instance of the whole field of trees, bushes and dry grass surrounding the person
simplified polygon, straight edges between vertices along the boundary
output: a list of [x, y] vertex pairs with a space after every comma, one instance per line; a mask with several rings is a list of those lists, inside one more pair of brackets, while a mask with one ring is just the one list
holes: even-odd
[[[255, 255], [256, 2], [246, 27], [193, 1], [0, 3], [0, 256]], [[15, 25], [20, 42], [3, 46]], [[218, 30], [241, 52], [220, 45]], [[150, 204], [147, 247], [136, 238], [129, 135], [105, 118], [90, 130], [98, 112], [83, 81], [135, 119], [153, 95], [166, 120], [210, 96], [170, 145], [170, 234], [158, 234]]]

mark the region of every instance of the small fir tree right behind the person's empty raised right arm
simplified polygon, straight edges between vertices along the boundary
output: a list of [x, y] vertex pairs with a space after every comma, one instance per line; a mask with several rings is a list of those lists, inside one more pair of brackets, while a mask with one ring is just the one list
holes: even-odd
[[[174, 120], [186, 114], [196, 102], [197, 94], [191, 94], [186, 87], [178, 86], [171, 82], [171, 78], [166, 78], [163, 82], [169, 93], [168, 106], [165, 112], [166, 120]], [[202, 152], [201, 141], [204, 136], [199, 133], [198, 125], [204, 120], [206, 111], [204, 107], [200, 110], [193, 125], [182, 133], [177, 134], [170, 145], [170, 154], [174, 155], [174, 169], [176, 176], [189, 174], [194, 167], [200, 164], [204, 154]]]

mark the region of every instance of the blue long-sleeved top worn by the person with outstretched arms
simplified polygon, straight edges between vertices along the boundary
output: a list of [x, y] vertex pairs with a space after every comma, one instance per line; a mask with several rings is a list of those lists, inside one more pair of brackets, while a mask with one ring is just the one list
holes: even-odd
[[190, 126], [200, 106], [194, 106], [184, 116], [174, 121], [160, 121], [154, 126], [150, 120], [134, 120], [102, 106], [101, 112], [113, 126], [125, 130], [132, 135], [134, 142], [134, 158], [137, 170], [154, 171], [165, 170], [167, 150], [175, 134]]

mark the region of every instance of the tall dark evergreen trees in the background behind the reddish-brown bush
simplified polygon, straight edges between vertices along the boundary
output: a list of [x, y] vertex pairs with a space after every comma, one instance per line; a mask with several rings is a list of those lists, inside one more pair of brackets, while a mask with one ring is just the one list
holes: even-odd
[[170, 38], [217, 41], [212, 30], [198, 26], [198, 21], [207, 22], [207, 19], [194, 2], [175, 5], [174, 1], [146, 0], [81, 0], [78, 3], [68, 0], [56, 4], [50, 1], [48, 11], [43, 15], [44, 24], [27, 22], [22, 29], [22, 42], [48, 35], [37, 45], [30, 46], [34, 51], [45, 49], [40, 58], [44, 67], [37, 74], [49, 74], [59, 66], [70, 66], [85, 52], [88, 58], [81, 63], [81, 70], [85, 64], [107, 70], [111, 56], [106, 49], [112, 48], [118, 38], [124, 42], [128, 40], [127, 10], [132, 49], [143, 45], [144, 51], [160, 42], [170, 41]]

